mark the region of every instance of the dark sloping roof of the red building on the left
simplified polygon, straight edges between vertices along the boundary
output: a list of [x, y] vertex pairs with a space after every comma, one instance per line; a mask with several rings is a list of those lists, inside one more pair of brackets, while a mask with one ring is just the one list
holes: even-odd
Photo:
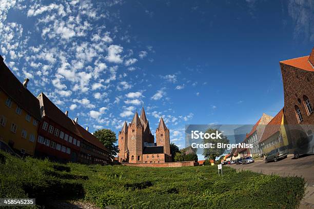
[[37, 98], [41, 101], [41, 105], [44, 107], [43, 114], [45, 116], [60, 124], [60, 126], [64, 127], [73, 134], [82, 137], [80, 132], [78, 132], [75, 125], [73, 124], [72, 119], [66, 116], [66, 114], [62, 112], [59, 108], [57, 108], [44, 93], [38, 95]]

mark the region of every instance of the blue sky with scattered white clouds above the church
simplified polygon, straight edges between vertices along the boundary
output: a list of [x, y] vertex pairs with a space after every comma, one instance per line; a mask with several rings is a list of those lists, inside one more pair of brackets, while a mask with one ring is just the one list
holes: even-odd
[[308, 55], [312, 1], [11, 1], [0, 54], [93, 132], [142, 102], [184, 147], [185, 124], [253, 124], [283, 107], [279, 61]]

